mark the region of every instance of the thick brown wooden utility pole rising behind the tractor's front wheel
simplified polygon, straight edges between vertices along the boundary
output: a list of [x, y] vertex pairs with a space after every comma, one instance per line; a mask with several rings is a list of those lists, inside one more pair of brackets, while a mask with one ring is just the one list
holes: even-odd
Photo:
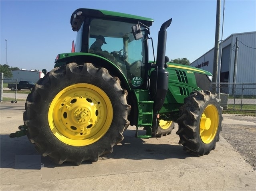
[[[214, 63], [212, 72], [212, 82], [217, 82], [218, 75], [218, 59], [219, 59], [219, 38], [220, 38], [220, 0], [217, 0], [216, 7], [216, 28], [215, 28], [215, 43], [214, 43]], [[212, 89], [216, 93], [216, 87]]]

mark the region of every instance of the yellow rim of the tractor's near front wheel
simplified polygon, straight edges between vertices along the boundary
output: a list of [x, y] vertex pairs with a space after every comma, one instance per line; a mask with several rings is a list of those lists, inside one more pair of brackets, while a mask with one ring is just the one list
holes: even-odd
[[200, 120], [200, 136], [205, 144], [212, 142], [219, 125], [219, 115], [216, 106], [208, 105]]

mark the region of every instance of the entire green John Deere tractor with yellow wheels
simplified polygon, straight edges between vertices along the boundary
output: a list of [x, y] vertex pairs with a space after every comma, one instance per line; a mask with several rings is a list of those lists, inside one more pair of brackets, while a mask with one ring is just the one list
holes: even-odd
[[208, 91], [212, 74], [169, 63], [171, 19], [159, 30], [156, 61], [149, 61], [152, 23], [105, 10], [73, 12], [72, 52], [43, 71], [26, 99], [24, 125], [10, 137], [26, 134], [42, 156], [80, 165], [111, 153], [129, 125], [137, 127], [136, 137], [150, 138], [170, 134], [176, 122], [185, 151], [203, 156], [214, 150], [223, 118], [220, 100]]

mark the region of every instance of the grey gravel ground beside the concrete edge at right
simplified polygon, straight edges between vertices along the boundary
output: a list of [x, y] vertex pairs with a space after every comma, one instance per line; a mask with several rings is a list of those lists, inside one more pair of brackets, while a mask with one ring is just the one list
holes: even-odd
[[[227, 115], [227, 114], [226, 114]], [[224, 116], [225, 117], [225, 116]], [[228, 115], [234, 120], [255, 122], [255, 116]], [[227, 142], [256, 170], [256, 126], [242, 124], [222, 124], [223, 136]]]

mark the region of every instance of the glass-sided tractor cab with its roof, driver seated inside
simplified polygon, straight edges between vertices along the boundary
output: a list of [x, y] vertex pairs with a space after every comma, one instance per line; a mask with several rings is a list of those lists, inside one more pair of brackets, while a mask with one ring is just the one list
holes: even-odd
[[[113, 16], [109, 11], [78, 9], [71, 16], [72, 29], [77, 31], [75, 52], [107, 59], [121, 69], [131, 89], [144, 89], [149, 70], [147, 39], [152, 22], [129, 14]], [[134, 35], [134, 26], [139, 26], [139, 38]], [[97, 49], [92, 48], [98, 37], [104, 37], [105, 42]]]

